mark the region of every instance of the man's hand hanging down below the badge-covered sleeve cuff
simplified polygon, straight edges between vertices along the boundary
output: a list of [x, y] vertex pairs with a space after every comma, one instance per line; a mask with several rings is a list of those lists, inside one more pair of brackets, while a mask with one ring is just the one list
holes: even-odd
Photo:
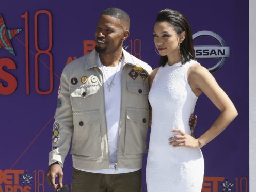
[[[55, 181], [56, 177], [58, 178], [59, 184], [57, 184]], [[49, 185], [54, 188], [54, 190], [62, 188], [63, 172], [58, 162], [55, 162], [49, 166], [49, 169], [46, 175], [46, 180], [49, 183]]]

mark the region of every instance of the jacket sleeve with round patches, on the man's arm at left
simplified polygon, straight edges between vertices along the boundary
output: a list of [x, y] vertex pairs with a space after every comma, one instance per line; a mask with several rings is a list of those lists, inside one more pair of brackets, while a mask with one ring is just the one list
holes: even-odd
[[59, 162], [63, 167], [68, 154], [73, 133], [73, 116], [69, 92], [68, 66], [63, 69], [58, 91], [57, 109], [53, 124], [52, 151], [49, 153], [49, 165]]

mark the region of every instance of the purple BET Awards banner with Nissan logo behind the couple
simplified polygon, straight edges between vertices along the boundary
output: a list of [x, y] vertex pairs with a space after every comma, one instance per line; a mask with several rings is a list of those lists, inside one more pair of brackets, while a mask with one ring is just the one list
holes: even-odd
[[[130, 15], [131, 35], [124, 48], [152, 68], [159, 61], [153, 41], [157, 13], [171, 8], [187, 16], [198, 62], [212, 72], [238, 110], [230, 126], [202, 148], [202, 191], [249, 191], [248, 1], [13, 0], [0, 3], [0, 192], [53, 191], [45, 175], [61, 72], [94, 49], [99, 15], [108, 7]], [[201, 95], [195, 114], [199, 137], [219, 111]], [[147, 153], [142, 191], [147, 191], [146, 159]], [[70, 154], [63, 171], [63, 183], [70, 187]]]

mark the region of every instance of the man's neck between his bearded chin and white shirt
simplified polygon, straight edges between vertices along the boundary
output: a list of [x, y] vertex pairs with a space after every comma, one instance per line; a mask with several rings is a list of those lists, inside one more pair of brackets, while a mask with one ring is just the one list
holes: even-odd
[[117, 50], [116, 52], [111, 53], [99, 53], [101, 63], [107, 67], [118, 66], [118, 63], [122, 57], [122, 49]]

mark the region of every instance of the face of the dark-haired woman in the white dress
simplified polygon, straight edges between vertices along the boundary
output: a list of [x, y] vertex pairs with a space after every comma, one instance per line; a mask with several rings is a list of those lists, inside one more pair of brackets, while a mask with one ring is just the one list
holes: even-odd
[[179, 54], [180, 36], [167, 22], [156, 22], [154, 26], [154, 42], [156, 49], [162, 56]]

